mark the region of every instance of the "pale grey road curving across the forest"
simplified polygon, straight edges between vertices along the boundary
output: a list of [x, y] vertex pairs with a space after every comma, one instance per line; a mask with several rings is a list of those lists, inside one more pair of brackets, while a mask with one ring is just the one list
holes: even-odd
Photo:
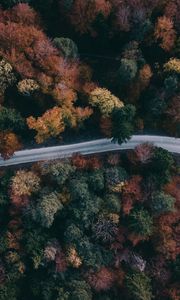
[[71, 157], [74, 153], [88, 155], [109, 151], [128, 150], [134, 149], [137, 145], [145, 142], [153, 143], [155, 146], [162, 147], [169, 152], [180, 154], [180, 138], [154, 135], [134, 135], [127, 143], [123, 143], [121, 145], [111, 142], [110, 139], [99, 139], [65, 146], [17, 151], [14, 156], [8, 160], [0, 158], [0, 166], [6, 167], [43, 160]]

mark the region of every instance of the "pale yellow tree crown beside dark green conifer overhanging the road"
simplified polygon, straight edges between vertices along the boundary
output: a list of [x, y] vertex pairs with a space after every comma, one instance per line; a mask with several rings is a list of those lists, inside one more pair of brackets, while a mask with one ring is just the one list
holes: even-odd
[[105, 88], [96, 88], [89, 95], [89, 103], [93, 107], [97, 107], [100, 113], [108, 117], [111, 115], [114, 108], [121, 108], [124, 106], [123, 102], [112, 95], [110, 91]]

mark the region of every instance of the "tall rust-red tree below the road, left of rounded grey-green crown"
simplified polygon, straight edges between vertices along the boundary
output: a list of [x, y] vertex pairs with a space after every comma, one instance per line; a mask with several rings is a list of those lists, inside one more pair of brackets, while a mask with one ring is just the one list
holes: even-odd
[[133, 176], [124, 186], [122, 193], [122, 209], [125, 215], [128, 215], [135, 202], [143, 201], [141, 189], [141, 176]]

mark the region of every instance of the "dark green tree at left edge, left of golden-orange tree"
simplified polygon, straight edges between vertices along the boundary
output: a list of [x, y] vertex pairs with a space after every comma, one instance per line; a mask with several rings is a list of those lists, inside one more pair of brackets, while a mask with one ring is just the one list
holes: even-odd
[[25, 120], [15, 109], [1, 107], [0, 130], [10, 130], [15, 133], [21, 133], [25, 130]]

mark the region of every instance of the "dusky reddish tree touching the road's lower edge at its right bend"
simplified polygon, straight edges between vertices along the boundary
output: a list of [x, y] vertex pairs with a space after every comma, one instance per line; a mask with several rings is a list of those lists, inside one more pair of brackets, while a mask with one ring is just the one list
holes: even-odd
[[147, 164], [151, 161], [154, 153], [154, 146], [150, 143], [144, 143], [136, 146], [134, 151], [128, 153], [128, 158], [133, 164]]

